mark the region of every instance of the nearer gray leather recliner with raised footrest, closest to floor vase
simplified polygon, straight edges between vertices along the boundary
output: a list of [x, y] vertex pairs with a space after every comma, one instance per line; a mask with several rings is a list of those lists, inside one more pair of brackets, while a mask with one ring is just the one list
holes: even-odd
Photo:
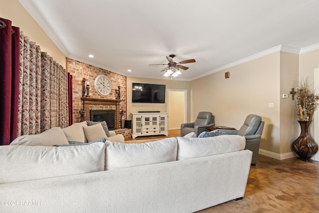
[[259, 145], [264, 124], [265, 122], [261, 120], [259, 115], [250, 114], [246, 117], [243, 126], [239, 130], [219, 129], [219, 135], [227, 134], [245, 136], [245, 149], [253, 152], [251, 164], [255, 166], [258, 159]]

